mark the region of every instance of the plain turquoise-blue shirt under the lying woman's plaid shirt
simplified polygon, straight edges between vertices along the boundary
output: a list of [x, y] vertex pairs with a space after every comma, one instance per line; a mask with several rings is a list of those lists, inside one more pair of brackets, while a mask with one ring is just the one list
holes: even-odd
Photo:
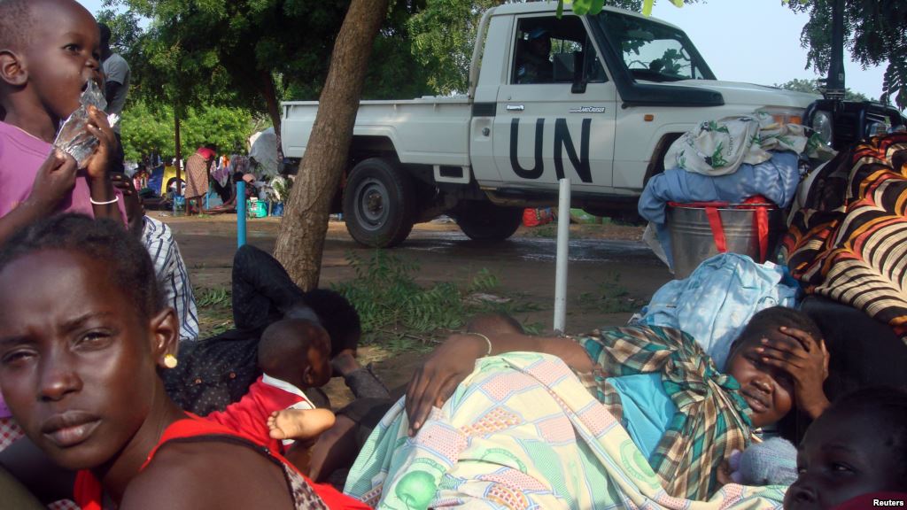
[[607, 380], [620, 396], [624, 428], [648, 460], [661, 436], [668, 430], [678, 407], [665, 392], [661, 374], [637, 374]]

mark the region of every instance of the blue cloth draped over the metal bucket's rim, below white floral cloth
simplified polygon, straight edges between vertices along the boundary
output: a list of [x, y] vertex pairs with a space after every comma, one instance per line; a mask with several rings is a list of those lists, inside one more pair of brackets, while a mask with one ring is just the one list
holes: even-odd
[[674, 267], [671, 242], [665, 226], [669, 201], [725, 201], [739, 203], [762, 195], [784, 209], [794, 200], [800, 182], [799, 158], [795, 152], [773, 152], [772, 159], [757, 165], [742, 164], [734, 173], [712, 177], [674, 168], [649, 179], [639, 197], [639, 216], [652, 222], [668, 266]]

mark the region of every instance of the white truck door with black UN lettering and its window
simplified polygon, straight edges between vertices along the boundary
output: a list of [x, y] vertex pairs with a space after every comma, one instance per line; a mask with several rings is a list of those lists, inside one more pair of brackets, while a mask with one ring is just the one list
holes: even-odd
[[[564, 177], [580, 187], [610, 186], [617, 90], [580, 18], [527, 16], [513, 31], [493, 121], [504, 186], [554, 190]], [[580, 81], [583, 90], [574, 87]]]

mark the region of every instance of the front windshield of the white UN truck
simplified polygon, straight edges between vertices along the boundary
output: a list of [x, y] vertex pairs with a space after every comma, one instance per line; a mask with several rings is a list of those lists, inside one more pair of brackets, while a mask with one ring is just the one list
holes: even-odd
[[597, 18], [634, 79], [649, 82], [715, 79], [687, 34], [677, 28], [609, 11], [603, 11]]

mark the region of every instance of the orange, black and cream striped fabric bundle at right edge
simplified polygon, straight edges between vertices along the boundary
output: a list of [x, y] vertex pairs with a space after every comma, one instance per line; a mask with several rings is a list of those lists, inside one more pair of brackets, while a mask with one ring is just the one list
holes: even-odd
[[821, 172], [791, 218], [787, 265], [807, 293], [861, 309], [907, 343], [907, 134], [875, 137]]

